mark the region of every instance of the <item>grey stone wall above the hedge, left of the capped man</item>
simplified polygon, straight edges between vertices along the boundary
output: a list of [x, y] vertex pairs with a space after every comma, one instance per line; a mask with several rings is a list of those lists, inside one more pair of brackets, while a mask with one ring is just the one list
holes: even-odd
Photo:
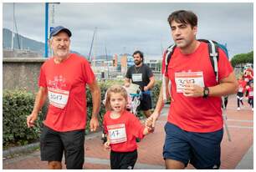
[[38, 91], [38, 74], [47, 58], [3, 58], [3, 89]]

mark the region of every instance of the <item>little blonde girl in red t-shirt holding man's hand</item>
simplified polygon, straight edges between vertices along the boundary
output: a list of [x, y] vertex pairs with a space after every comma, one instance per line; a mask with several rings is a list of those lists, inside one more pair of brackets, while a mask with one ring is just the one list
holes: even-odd
[[137, 159], [136, 138], [153, 131], [151, 123], [143, 126], [134, 114], [126, 110], [127, 92], [120, 85], [107, 90], [104, 129], [107, 141], [104, 146], [110, 151], [111, 169], [133, 169]]

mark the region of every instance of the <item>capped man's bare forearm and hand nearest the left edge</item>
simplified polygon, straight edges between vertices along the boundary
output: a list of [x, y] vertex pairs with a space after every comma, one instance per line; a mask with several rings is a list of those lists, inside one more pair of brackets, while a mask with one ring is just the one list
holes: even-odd
[[38, 119], [38, 113], [40, 109], [43, 107], [46, 98], [47, 98], [47, 88], [40, 87], [38, 90], [38, 94], [36, 95], [36, 99], [34, 101], [33, 111], [27, 117], [28, 128], [34, 126], [34, 121]]

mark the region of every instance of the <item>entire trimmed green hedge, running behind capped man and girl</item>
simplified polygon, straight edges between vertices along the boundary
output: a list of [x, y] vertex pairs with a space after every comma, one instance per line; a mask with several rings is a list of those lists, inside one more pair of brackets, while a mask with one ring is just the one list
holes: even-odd
[[[106, 81], [100, 82], [101, 100], [105, 99], [105, 91], [114, 83], [123, 83], [122, 81]], [[153, 106], [156, 104], [159, 94], [160, 82], [156, 82], [152, 90]], [[85, 134], [90, 133], [90, 118], [92, 111], [92, 98], [90, 89], [86, 89], [87, 94], [87, 124]], [[47, 104], [38, 114], [38, 120], [35, 127], [28, 129], [27, 116], [33, 110], [35, 95], [25, 90], [3, 90], [3, 149], [7, 149], [13, 145], [30, 144], [38, 141], [42, 129], [42, 121], [47, 112]], [[100, 104], [100, 127], [102, 127], [102, 119], [105, 114], [105, 107]], [[139, 113], [139, 116], [143, 114]]]

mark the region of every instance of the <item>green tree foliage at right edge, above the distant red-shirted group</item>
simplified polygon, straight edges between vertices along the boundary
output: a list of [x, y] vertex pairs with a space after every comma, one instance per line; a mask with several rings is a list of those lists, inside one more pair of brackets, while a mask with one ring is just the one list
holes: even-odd
[[231, 59], [233, 67], [243, 63], [253, 63], [253, 51], [250, 53], [239, 53]]

